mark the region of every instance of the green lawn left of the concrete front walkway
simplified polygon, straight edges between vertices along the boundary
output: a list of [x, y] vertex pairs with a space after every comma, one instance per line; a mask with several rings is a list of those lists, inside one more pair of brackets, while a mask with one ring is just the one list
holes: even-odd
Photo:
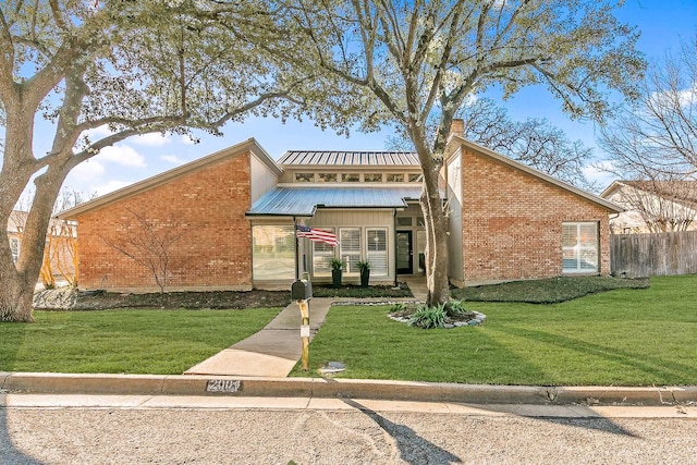
[[36, 323], [0, 325], [0, 371], [182, 374], [278, 313], [35, 311]]

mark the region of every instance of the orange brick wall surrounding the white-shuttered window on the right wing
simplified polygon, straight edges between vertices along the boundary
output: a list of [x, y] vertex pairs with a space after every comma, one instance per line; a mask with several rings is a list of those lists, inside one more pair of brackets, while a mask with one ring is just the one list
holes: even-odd
[[607, 209], [490, 157], [462, 156], [465, 282], [561, 276], [566, 221], [599, 222], [600, 273], [610, 273]]

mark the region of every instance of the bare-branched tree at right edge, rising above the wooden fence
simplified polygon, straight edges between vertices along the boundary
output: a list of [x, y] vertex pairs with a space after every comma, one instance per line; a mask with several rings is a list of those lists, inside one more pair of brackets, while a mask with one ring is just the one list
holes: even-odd
[[697, 199], [697, 40], [655, 60], [640, 96], [601, 127], [600, 166], [622, 180], [621, 201], [652, 232], [681, 231]]

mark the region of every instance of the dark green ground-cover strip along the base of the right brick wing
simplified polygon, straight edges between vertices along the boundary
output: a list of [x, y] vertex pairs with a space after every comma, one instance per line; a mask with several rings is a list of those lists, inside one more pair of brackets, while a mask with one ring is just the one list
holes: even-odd
[[588, 294], [615, 289], [645, 289], [648, 279], [617, 279], [610, 277], [560, 277], [534, 281], [513, 281], [501, 284], [454, 289], [452, 295], [458, 299], [475, 302], [527, 302], [530, 304], [555, 304], [572, 301]]

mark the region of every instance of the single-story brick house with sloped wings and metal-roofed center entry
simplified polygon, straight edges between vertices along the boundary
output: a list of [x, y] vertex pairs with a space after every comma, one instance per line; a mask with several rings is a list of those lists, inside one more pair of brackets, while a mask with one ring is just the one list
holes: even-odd
[[[610, 272], [614, 204], [457, 135], [442, 174], [455, 284]], [[393, 283], [425, 271], [420, 182], [414, 154], [288, 151], [276, 162], [249, 139], [60, 217], [78, 222], [81, 287], [156, 289], [109, 245], [134, 212], [186, 230], [170, 290], [289, 289], [296, 271], [330, 282], [331, 258], [346, 262], [345, 283], [359, 281], [362, 259], [371, 283]], [[339, 245], [301, 238], [296, 270], [294, 223], [332, 232]]]

